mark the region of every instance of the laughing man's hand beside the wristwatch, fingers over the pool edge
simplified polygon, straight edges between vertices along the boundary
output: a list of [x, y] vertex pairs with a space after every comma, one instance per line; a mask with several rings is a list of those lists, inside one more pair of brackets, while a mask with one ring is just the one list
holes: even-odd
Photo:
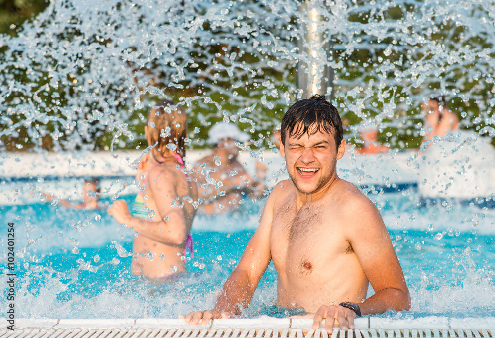
[[343, 306], [320, 306], [316, 313], [309, 313], [304, 316], [292, 316], [290, 318], [313, 318], [313, 330], [317, 330], [320, 327], [320, 323], [325, 321], [325, 330], [328, 334], [333, 332], [335, 321], [337, 321], [341, 330], [347, 331], [348, 329], [354, 329], [354, 318], [356, 313], [351, 309]]

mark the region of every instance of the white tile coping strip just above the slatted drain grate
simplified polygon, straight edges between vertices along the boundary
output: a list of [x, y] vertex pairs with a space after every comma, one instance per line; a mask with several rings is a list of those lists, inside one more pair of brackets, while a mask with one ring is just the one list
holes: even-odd
[[[0, 318], [0, 332], [7, 330], [6, 318]], [[312, 319], [291, 319], [260, 316], [252, 319], [214, 319], [208, 325], [188, 325], [183, 319], [50, 319], [50, 318], [19, 318], [15, 319], [16, 329], [301, 329], [311, 330]], [[392, 319], [362, 317], [356, 318], [355, 329], [475, 329], [490, 330], [495, 335], [495, 317], [488, 318], [449, 318], [423, 317], [411, 319]], [[320, 325], [324, 329], [324, 325]]]

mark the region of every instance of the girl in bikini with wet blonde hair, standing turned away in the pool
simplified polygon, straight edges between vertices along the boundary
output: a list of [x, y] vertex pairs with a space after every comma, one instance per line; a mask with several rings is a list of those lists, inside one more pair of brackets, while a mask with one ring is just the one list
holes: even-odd
[[151, 149], [138, 166], [136, 178], [141, 191], [132, 213], [124, 200], [116, 200], [108, 213], [137, 232], [133, 242], [133, 274], [175, 277], [187, 273], [184, 263], [188, 249], [193, 256], [190, 231], [198, 202], [196, 185], [184, 172], [184, 108], [172, 101], [157, 103], [148, 114], [145, 135]]

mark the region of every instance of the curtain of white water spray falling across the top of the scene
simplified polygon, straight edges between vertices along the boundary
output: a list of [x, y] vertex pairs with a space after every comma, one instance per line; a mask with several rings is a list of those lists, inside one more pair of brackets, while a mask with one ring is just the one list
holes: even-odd
[[122, 147], [142, 137], [133, 126], [146, 97], [170, 93], [201, 111], [198, 126], [223, 117], [268, 129], [300, 97], [297, 62], [314, 61], [297, 47], [307, 25], [331, 42], [323, 61], [341, 113], [360, 122], [350, 131], [418, 136], [416, 108], [434, 89], [459, 99], [466, 126], [494, 135], [493, 2], [308, 3], [322, 22], [290, 0], [51, 1], [17, 36], [0, 37], [1, 146], [25, 136], [21, 148], [92, 150], [108, 130]]

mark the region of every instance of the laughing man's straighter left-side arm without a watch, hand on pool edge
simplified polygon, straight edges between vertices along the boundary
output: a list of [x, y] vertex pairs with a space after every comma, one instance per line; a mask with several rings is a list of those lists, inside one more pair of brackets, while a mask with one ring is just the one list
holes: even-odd
[[228, 318], [247, 308], [259, 280], [270, 264], [270, 230], [273, 218], [273, 201], [276, 193], [268, 197], [258, 229], [247, 243], [239, 264], [223, 285], [215, 307], [211, 311], [191, 312], [185, 318], [193, 325], [207, 324], [212, 318]]

